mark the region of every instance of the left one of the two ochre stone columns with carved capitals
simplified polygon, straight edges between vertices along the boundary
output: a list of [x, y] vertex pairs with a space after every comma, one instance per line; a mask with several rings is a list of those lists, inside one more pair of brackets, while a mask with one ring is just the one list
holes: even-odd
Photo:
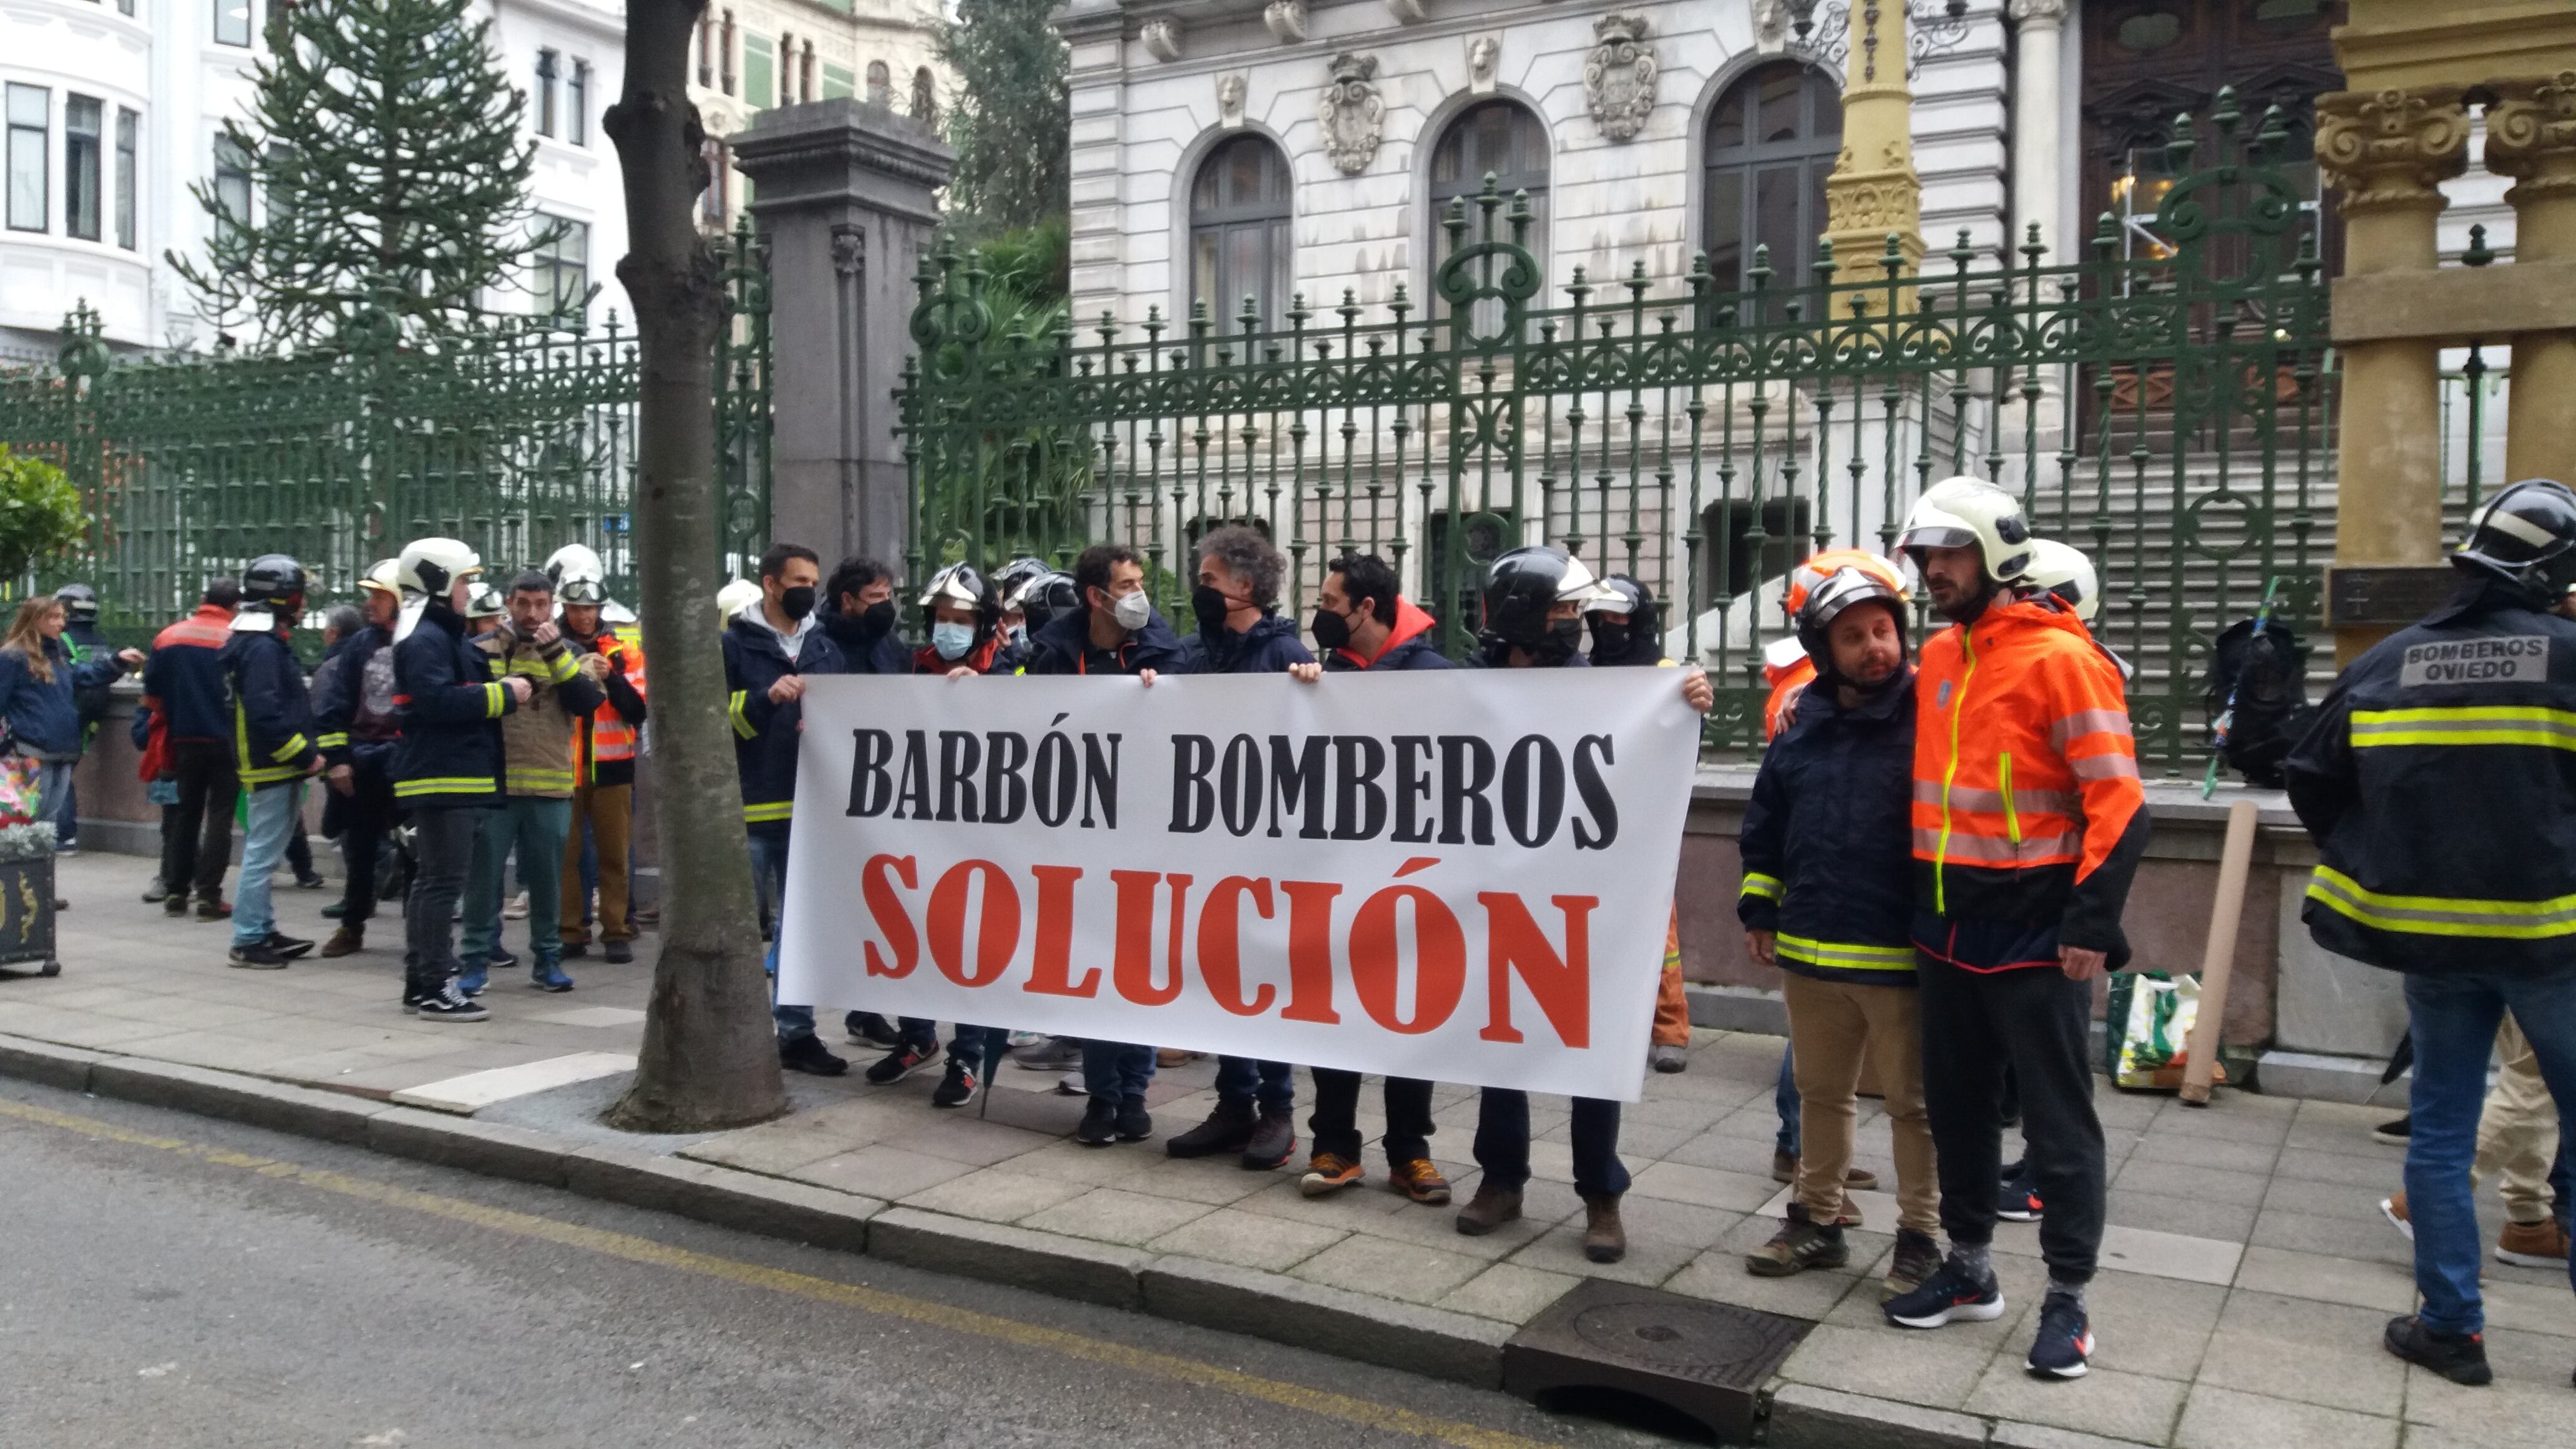
[[[2468, 170], [2460, 85], [2316, 98], [2316, 160], [2344, 193], [2344, 276], [2432, 273], [2445, 178]], [[2334, 567], [2442, 562], [2439, 345], [2344, 345]], [[2339, 627], [2336, 668], [2388, 634]]]

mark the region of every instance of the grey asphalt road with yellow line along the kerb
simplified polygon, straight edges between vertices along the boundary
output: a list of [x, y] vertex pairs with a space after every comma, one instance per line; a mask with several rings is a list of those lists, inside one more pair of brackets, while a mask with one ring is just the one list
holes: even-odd
[[0, 1444], [1651, 1444], [1497, 1392], [0, 1083]]

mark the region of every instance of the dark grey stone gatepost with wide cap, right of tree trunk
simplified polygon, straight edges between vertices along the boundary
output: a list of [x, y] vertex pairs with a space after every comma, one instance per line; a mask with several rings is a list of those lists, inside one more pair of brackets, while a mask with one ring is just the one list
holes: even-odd
[[729, 139], [770, 248], [770, 536], [902, 567], [907, 477], [894, 387], [912, 273], [956, 155], [855, 98], [762, 111]]

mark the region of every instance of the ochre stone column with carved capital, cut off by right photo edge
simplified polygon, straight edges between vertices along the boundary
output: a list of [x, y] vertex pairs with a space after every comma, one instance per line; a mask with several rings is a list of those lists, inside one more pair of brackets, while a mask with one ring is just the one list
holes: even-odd
[[[2576, 72], [2499, 80], [2486, 106], [2486, 170], [2512, 175], [2514, 263], [2576, 258]], [[2504, 477], [2576, 482], [2576, 333], [2514, 338]]]

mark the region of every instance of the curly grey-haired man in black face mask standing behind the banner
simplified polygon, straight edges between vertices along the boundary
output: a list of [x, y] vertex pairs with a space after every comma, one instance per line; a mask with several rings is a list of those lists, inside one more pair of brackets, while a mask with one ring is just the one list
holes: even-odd
[[[1198, 632], [1182, 639], [1182, 673], [1285, 673], [1311, 665], [1296, 639], [1296, 621], [1280, 619], [1280, 583], [1288, 557], [1242, 523], [1198, 541], [1198, 585], [1190, 614]], [[1164, 1142], [1175, 1158], [1242, 1152], [1244, 1168], [1267, 1173], [1296, 1152], [1296, 1067], [1216, 1057], [1216, 1109], [1206, 1122]]]

